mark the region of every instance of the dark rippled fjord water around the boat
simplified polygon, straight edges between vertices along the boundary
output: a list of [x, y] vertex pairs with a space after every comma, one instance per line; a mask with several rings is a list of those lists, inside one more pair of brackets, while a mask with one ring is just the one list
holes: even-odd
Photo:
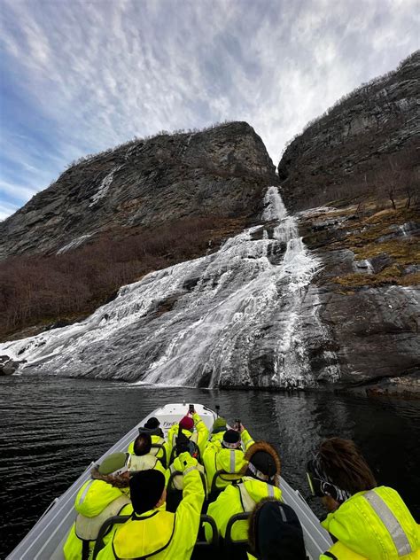
[[[283, 475], [307, 496], [307, 455], [331, 435], [354, 439], [377, 480], [396, 488], [420, 517], [419, 401], [369, 400], [325, 393], [145, 389], [56, 377], [0, 377], [0, 558], [91, 461], [154, 408], [201, 402], [282, 458]], [[320, 514], [319, 504], [310, 501]]]

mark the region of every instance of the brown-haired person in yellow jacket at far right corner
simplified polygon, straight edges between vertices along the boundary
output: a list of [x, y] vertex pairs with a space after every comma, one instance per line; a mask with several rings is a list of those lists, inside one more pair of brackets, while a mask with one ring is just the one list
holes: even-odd
[[336, 541], [322, 560], [420, 559], [419, 525], [398, 492], [377, 486], [353, 441], [323, 441], [307, 463], [307, 478], [330, 511], [322, 525]]

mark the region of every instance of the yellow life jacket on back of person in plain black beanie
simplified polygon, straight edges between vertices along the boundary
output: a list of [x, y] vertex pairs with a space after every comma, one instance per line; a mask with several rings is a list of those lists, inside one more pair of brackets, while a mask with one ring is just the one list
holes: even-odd
[[161, 510], [146, 512], [144, 517], [133, 515], [113, 535], [116, 560], [145, 560], [165, 550], [174, 536], [175, 520], [174, 513]]

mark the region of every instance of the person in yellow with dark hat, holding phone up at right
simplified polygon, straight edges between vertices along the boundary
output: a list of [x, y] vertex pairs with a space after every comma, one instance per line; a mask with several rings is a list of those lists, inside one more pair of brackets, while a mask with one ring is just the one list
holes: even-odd
[[[226, 430], [223, 432], [222, 446], [216, 441], [209, 442], [206, 446], [203, 463], [206, 467], [207, 487], [210, 492], [213, 481], [216, 489], [223, 489], [228, 486], [232, 480], [237, 480], [237, 474], [245, 467], [245, 454], [243, 449], [247, 449], [253, 445], [253, 438], [240, 424], [239, 432], [237, 430]], [[217, 471], [225, 471], [229, 474], [219, 474], [214, 479]]]

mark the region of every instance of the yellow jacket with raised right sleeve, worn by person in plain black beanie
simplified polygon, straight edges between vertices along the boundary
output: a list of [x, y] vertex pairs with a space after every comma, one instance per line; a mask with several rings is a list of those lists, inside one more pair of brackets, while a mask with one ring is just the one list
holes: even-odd
[[176, 513], [151, 509], [140, 516], [133, 515], [117, 529], [97, 560], [142, 556], [152, 556], [152, 560], [189, 560], [197, 540], [204, 489], [197, 462], [191, 457], [187, 460], [194, 463], [183, 471], [183, 500]]

